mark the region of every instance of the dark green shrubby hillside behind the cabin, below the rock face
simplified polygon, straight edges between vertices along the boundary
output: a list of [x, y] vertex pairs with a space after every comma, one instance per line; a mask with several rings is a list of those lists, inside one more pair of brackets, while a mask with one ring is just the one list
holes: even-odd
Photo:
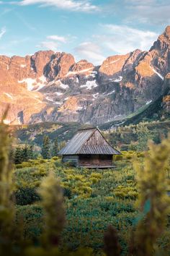
[[[167, 135], [168, 132], [170, 132], [169, 117], [169, 90], [166, 90], [164, 95], [161, 95], [153, 103], [140, 108], [133, 115], [127, 116], [125, 119], [106, 124], [99, 124], [98, 127], [103, 132], [110, 133], [108, 138], [109, 141], [112, 141], [112, 145], [119, 145], [121, 143], [130, 144], [131, 141], [137, 140], [137, 137], [133, 134], [133, 129], [136, 124], [139, 124], [142, 121], [146, 121], [146, 127], [151, 131], [157, 132], [159, 135]], [[89, 127], [89, 124], [80, 124], [76, 122], [43, 122], [30, 125], [15, 125], [11, 126], [11, 129], [19, 142], [29, 142], [41, 145], [44, 135], [48, 135], [50, 140], [54, 140], [57, 137], [58, 142], [63, 140], [67, 141], [73, 137], [77, 129], [84, 127]], [[122, 127], [121, 130], [117, 129], [118, 127]], [[114, 133], [112, 133], [112, 131], [114, 131]], [[123, 139], [120, 138], [121, 133], [125, 135]]]

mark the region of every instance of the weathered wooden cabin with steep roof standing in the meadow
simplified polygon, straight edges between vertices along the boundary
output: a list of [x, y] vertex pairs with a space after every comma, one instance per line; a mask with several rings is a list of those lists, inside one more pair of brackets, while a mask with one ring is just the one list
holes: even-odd
[[120, 154], [97, 128], [79, 129], [58, 153], [63, 163], [84, 168], [112, 168], [112, 156]]

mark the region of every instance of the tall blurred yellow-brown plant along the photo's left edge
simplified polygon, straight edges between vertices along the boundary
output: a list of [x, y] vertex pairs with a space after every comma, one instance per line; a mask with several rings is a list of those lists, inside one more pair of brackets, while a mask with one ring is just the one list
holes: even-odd
[[9, 252], [11, 249], [14, 231], [14, 205], [12, 202], [12, 161], [11, 148], [12, 138], [9, 136], [9, 129], [3, 120], [0, 123], [0, 255]]

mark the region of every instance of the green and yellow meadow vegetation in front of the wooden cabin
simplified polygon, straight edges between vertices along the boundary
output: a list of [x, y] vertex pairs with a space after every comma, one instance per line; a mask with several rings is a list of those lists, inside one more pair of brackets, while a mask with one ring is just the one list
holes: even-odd
[[[24, 167], [27, 166], [27, 167]], [[23, 167], [23, 168], [19, 168]], [[62, 187], [71, 191], [66, 197], [66, 228], [63, 231], [64, 247], [92, 247], [101, 250], [104, 230], [109, 223], [121, 232], [122, 248], [127, 249], [127, 233], [137, 210], [135, 200], [135, 171], [126, 157], [117, 161], [117, 168], [107, 170], [88, 170], [62, 166], [57, 161], [31, 161], [17, 166], [17, 188], [39, 187], [41, 179], [53, 170], [61, 179]], [[122, 186], [120, 189], [117, 186]], [[24, 234], [36, 239], [42, 226], [42, 209], [39, 204], [17, 206], [18, 216], [24, 221]]]

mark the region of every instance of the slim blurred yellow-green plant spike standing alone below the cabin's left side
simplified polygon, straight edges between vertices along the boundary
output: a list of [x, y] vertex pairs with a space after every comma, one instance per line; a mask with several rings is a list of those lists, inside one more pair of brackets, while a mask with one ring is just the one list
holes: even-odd
[[52, 172], [42, 182], [40, 196], [42, 197], [42, 208], [45, 211], [42, 245], [44, 247], [58, 246], [65, 223], [65, 208], [60, 182]]

